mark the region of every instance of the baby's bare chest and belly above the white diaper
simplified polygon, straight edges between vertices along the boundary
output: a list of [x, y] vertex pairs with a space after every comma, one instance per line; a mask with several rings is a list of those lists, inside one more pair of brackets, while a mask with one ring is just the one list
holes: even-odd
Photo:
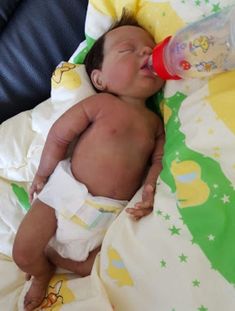
[[95, 101], [84, 104], [94, 120], [74, 149], [72, 172], [93, 195], [130, 200], [155, 148], [159, 119], [145, 106], [113, 95], [100, 94]]

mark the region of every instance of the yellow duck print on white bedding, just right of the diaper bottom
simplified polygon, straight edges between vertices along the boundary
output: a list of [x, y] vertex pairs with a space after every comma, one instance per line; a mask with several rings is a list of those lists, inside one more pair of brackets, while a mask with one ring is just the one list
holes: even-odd
[[108, 269], [109, 277], [116, 280], [118, 286], [133, 286], [133, 281], [118, 252], [111, 246], [108, 248]]

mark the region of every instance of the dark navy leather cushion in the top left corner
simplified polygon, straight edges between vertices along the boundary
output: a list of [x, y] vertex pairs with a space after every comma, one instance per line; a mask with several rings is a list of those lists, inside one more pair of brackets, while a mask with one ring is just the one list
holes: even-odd
[[84, 40], [87, 0], [0, 1], [0, 123], [50, 96], [56, 65]]

